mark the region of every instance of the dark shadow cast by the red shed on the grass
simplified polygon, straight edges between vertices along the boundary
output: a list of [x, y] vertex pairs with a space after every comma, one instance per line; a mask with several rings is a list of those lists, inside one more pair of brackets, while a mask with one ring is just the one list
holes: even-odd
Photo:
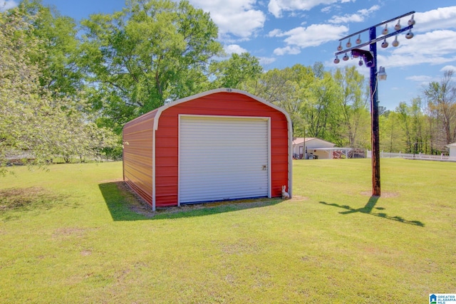
[[184, 205], [152, 211], [152, 208], [130, 191], [125, 182], [98, 184], [106, 206], [114, 221], [145, 221], [154, 219], [180, 219], [206, 216], [230, 211], [259, 208], [279, 204], [282, 199], [242, 199], [205, 204]]

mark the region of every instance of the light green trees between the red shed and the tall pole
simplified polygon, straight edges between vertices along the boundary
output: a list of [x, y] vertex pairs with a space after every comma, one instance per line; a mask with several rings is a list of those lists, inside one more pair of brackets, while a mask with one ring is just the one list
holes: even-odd
[[294, 136], [320, 137], [337, 145], [368, 147], [370, 116], [364, 78], [355, 68], [324, 70], [313, 66], [269, 70], [244, 83], [245, 90], [286, 110]]

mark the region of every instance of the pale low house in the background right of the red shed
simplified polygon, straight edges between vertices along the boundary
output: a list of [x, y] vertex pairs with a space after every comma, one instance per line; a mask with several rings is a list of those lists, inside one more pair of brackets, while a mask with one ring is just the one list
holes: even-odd
[[294, 159], [334, 159], [348, 158], [351, 148], [336, 147], [332, 142], [320, 140], [316, 137], [294, 137]]

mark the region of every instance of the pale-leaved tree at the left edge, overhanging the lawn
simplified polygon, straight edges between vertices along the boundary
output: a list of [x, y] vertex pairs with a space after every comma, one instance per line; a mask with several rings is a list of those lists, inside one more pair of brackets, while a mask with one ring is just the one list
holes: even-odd
[[33, 58], [43, 50], [30, 35], [30, 17], [19, 9], [0, 14], [0, 164], [11, 157], [35, 164], [57, 156], [95, 157], [114, 145], [114, 137], [82, 114], [85, 102], [41, 85]]

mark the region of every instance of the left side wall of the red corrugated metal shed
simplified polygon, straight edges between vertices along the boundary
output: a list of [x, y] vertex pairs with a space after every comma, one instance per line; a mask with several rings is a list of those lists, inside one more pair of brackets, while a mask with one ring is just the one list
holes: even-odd
[[142, 115], [123, 128], [123, 179], [151, 206], [152, 128], [155, 113]]

